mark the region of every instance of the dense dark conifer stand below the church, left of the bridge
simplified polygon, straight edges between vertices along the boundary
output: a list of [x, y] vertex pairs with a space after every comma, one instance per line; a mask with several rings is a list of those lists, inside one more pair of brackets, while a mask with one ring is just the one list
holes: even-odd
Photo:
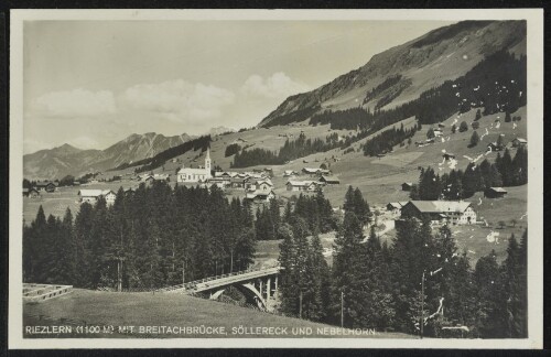
[[154, 289], [248, 268], [255, 252], [248, 204], [216, 186], [172, 190], [166, 183], [120, 188], [111, 206], [80, 205], [73, 219], [42, 206], [23, 228], [25, 282], [78, 288]]

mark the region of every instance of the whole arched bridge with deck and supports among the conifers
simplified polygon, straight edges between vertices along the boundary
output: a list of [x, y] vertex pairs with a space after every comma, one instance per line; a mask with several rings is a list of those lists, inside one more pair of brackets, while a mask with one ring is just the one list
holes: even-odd
[[271, 310], [270, 303], [278, 293], [280, 270], [279, 266], [248, 269], [163, 288], [158, 292], [181, 294], [207, 292], [210, 300], [216, 300], [226, 289], [234, 286], [245, 295], [247, 302], [257, 305], [260, 310]]

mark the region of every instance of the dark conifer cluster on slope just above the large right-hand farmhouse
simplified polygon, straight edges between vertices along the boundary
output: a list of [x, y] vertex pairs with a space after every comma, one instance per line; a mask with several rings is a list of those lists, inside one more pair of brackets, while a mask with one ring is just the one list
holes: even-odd
[[528, 151], [520, 147], [511, 159], [508, 149], [498, 152], [495, 163], [487, 159], [479, 165], [469, 163], [465, 171], [452, 170], [442, 176], [432, 167], [421, 169], [418, 185], [410, 192], [411, 199], [463, 199], [489, 187], [519, 186], [528, 183]]

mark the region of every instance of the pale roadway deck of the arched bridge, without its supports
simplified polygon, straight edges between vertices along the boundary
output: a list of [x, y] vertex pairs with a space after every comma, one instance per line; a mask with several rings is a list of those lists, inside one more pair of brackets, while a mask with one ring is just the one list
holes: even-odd
[[231, 285], [238, 282], [253, 280], [258, 278], [276, 275], [280, 271], [280, 267], [258, 269], [258, 270], [246, 270], [238, 271], [235, 273], [205, 278], [197, 281], [192, 281], [185, 284], [179, 284], [165, 289], [161, 289], [161, 292], [173, 292], [173, 293], [196, 293], [202, 291], [214, 290], [217, 288], [223, 288]]

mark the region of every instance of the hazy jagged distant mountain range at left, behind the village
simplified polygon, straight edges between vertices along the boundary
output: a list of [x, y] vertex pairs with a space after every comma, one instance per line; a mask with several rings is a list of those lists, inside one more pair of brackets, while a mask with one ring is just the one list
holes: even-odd
[[158, 153], [184, 143], [194, 137], [186, 133], [164, 137], [154, 132], [131, 134], [105, 150], [80, 150], [69, 144], [40, 150], [23, 156], [25, 178], [62, 178], [88, 172], [105, 171], [122, 163], [153, 158]]

